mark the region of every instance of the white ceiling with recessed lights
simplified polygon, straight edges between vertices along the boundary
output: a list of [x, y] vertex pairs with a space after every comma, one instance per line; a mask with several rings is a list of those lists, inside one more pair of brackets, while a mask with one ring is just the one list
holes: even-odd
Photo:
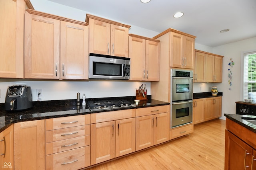
[[[256, 0], [49, 0], [161, 33], [173, 28], [216, 47], [256, 37]], [[175, 12], [182, 18], [173, 18]], [[222, 29], [230, 29], [220, 33]]]

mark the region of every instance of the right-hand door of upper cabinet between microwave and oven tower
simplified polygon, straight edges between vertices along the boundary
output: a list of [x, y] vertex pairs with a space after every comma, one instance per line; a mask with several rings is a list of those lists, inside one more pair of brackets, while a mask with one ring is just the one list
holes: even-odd
[[145, 80], [160, 80], [160, 43], [146, 40]]

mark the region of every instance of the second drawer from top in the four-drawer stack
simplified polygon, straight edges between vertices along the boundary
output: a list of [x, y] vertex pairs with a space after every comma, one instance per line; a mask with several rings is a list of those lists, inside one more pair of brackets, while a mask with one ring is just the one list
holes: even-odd
[[90, 135], [90, 125], [46, 131], [46, 143]]

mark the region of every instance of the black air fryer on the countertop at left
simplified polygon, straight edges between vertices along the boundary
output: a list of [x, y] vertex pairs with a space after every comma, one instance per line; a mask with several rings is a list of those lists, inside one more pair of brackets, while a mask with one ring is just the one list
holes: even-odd
[[30, 86], [9, 86], [5, 97], [6, 111], [20, 111], [32, 107]]

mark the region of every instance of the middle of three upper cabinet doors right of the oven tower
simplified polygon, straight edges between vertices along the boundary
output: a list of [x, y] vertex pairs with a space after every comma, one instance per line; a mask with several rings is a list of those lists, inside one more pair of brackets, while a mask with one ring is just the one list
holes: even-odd
[[204, 64], [204, 80], [205, 82], [213, 82], [214, 76], [214, 56], [206, 54]]

